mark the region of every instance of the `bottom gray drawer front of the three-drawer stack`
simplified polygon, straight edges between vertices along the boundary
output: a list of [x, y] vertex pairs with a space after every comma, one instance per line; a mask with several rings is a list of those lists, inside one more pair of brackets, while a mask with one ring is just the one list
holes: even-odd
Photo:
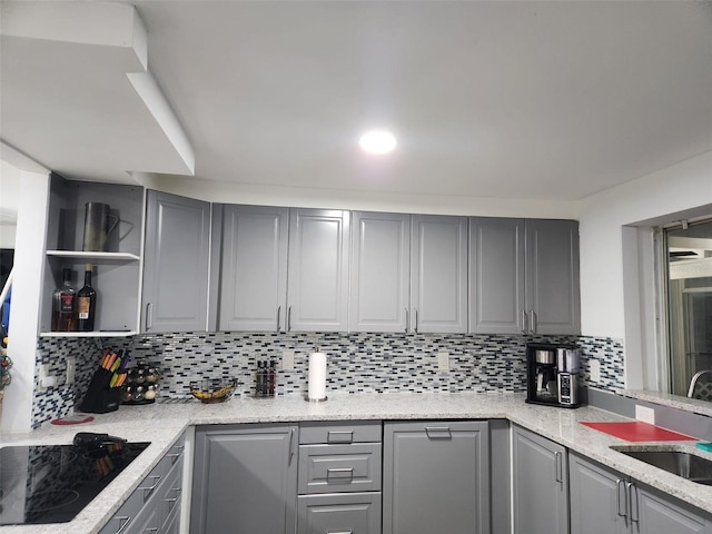
[[380, 493], [300, 496], [297, 514], [297, 534], [380, 534]]

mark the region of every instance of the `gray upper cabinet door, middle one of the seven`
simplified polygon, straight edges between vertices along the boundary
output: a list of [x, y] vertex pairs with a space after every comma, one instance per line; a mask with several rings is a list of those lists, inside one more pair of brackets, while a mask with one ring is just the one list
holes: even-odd
[[411, 216], [353, 214], [352, 332], [406, 332]]

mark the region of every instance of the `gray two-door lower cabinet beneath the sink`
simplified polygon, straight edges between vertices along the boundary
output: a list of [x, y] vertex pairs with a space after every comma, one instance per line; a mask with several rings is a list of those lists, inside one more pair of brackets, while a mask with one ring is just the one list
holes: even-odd
[[584, 458], [568, 454], [571, 534], [700, 534], [708, 514]]

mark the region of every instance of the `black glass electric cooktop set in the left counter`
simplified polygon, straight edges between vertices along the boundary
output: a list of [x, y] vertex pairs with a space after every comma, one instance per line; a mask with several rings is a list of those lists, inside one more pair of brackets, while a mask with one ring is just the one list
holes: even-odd
[[0, 525], [71, 521], [148, 445], [0, 448]]

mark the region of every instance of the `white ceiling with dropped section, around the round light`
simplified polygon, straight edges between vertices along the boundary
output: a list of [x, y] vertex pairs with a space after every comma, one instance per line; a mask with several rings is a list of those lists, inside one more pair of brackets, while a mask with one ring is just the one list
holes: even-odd
[[48, 4], [2, 2], [0, 137], [70, 178], [575, 200], [712, 150], [710, 1], [112, 2], [128, 46]]

